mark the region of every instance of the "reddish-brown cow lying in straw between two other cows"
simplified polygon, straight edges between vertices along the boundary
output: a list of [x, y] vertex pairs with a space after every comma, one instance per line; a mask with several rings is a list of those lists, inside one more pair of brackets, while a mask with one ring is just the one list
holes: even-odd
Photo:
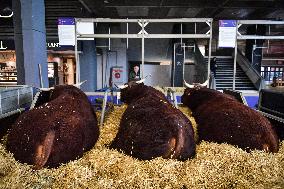
[[121, 87], [128, 104], [112, 148], [141, 160], [156, 157], [186, 160], [195, 154], [191, 122], [163, 93], [142, 82]]

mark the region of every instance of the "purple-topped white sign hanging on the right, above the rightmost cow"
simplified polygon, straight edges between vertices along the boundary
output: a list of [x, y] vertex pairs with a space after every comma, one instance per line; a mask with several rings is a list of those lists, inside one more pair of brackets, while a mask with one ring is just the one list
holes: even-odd
[[236, 20], [219, 20], [219, 47], [234, 48], [237, 30]]

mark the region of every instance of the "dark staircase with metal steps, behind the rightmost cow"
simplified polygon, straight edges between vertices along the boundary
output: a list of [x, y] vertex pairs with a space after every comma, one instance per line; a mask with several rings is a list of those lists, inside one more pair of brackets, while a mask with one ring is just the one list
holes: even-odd
[[[207, 59], [205, 59], [207, 61]], [[232, 58], [217, 58], [216, 89], [233, 89], [234, 60]], [[253, 83], [237, 64], [235, 90], [256, 90]]]

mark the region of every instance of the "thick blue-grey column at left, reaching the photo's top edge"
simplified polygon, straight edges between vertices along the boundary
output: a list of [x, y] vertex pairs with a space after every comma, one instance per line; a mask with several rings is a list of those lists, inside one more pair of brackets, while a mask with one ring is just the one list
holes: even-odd
[[18, 84], [48, 87], [44, 0], [12, 3]]

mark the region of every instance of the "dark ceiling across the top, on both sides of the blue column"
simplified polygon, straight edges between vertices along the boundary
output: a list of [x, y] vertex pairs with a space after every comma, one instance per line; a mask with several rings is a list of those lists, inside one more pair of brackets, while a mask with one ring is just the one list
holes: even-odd
[[[0, 0], [0, 12], [11, 6]], [[45, 0], [47, 38], [57, 38], [59, 17], [284, 20], [284, 0]], [[13, 36], [13, 18], [0, 18], [0, 39]]]

